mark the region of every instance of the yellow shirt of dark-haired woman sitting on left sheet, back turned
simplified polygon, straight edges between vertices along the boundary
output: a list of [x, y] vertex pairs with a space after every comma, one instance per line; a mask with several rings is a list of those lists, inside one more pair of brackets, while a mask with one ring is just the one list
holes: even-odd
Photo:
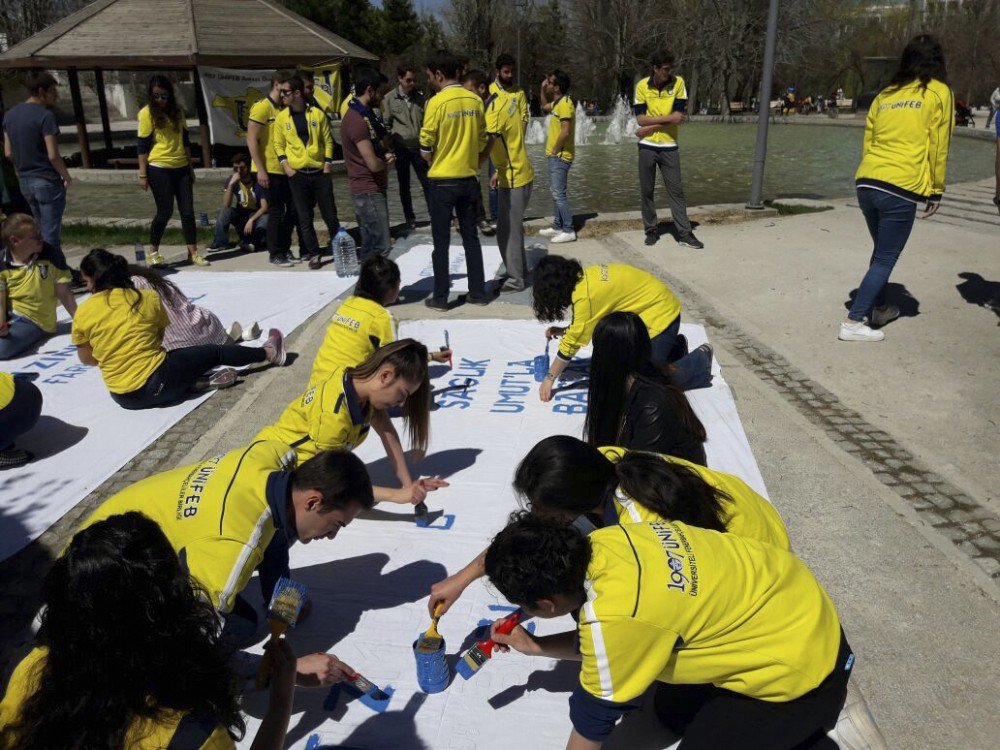
[[73, 343], [90, 346], [112, 393], [141, 388], [167, 356], [162, 342], [170, 318], [160, 295], [152, 289], [138, 294], [140, 302], [133, 308], [136, 292], [97, 292], [81, 302], [73, 316]]

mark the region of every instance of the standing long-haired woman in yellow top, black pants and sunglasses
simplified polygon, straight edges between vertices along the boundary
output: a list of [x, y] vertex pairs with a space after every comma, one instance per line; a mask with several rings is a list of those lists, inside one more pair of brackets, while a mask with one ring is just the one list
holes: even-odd
[[149, 228], [149, 264], [166, 264], [160, 255], [160, 240], [174, 214], [181, 214], [188, 258], [198, 266], [209, 263], [198, 254], [198, 231], [194, 224], [194, 165], [184, 110], [177, 101], [174, 84], [162, 75], [150, 76], [147, 104], [139, 110], [139, 186], [153, 192], [156, 215]]

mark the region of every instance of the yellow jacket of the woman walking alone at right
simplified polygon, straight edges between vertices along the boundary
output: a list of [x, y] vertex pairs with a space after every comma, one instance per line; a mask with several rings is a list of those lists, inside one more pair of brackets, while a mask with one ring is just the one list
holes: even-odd
[[857, 186], [918, 203], [941, 200], [954, 128], [951, 89], [941, 81], [882, 89], [868, 108]]

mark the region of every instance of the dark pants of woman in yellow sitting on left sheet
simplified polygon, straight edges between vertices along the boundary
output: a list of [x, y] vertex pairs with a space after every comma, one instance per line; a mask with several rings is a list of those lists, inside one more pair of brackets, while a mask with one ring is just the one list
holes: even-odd
[[112, 393], [123, 409], [150, 409], [180, 401], [195, 381], [213, 367], [244, 367], [267, 360], [262, 348], [203, 344], [167, 352], [167, 358], [146, 380], [142, 388], [129, 393]]

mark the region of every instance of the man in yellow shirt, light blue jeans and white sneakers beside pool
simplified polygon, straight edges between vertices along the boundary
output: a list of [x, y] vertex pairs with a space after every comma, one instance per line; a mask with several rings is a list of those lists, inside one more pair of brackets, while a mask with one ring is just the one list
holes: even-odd
[[569, 97], [569, 86], [569, 73], [557, 70], [542, 80], [539, 90], [542, 111], [549, 114], [545, 158], [552, 190], [552, 226], [538, 233], [555, 243], [576, 240], [573, 210], [567, 197], [569, 169], [573, 166], [576, 148], [576, 104]]

